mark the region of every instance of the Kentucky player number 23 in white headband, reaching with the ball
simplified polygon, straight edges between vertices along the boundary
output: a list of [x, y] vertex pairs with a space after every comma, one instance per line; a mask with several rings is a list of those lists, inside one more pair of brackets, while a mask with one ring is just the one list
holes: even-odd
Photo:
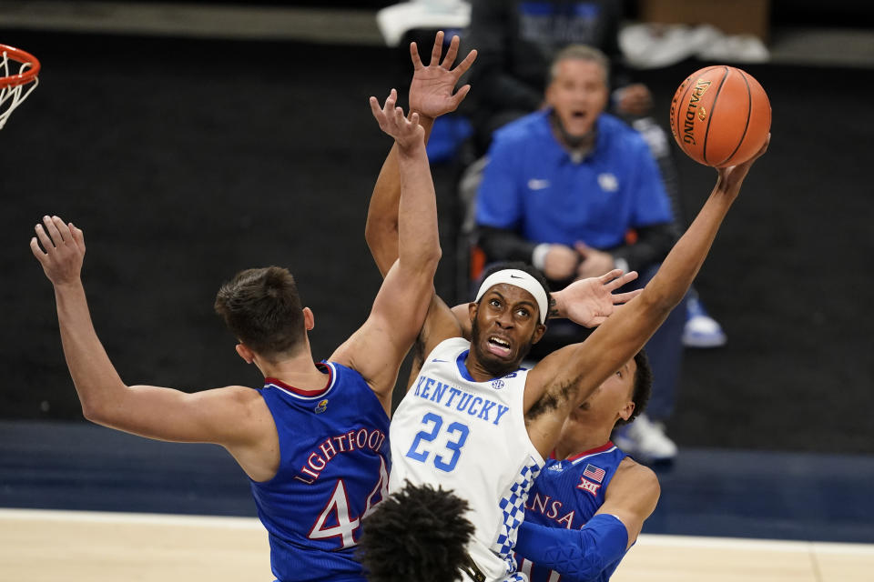
[[[412, 91], [410, 103], [425, 123], [440, 114], [417, 105]], [[544, 459], [560, 442], [565, 420], [586, 402], [591, 406], [590, 398], [603, 389], [608, 378], [621, 377], [625, 387], [630, 386], [635, 355], [686, 294], [749, 168], [766, 149], [763, 146], [744, 164], [717, 170], [716, 186], [686, 234], [642, 293], [619, 309], [614, 310], [609, 300], [592, 311], [586, 304], [568, 301], [564, 292], [550, 296], [544, 282], [522, 268], [490, 273], [475, 300], [456, 307], [454, 313], [433, 296], [417, 342], [422, 368], [392, 419], [390, 491], [399, 490], [404, 480], [443, 484], [471, 504], [467, 515], [475, 533], [468, 552], [474, 564], [462, 570], [464, 579], [527, 578], [517, 571], [513, 557], [517, 529], [528, 490], [542, 472]], [[383, 274], [397, 254], [393, 233], [400, 183], [395, 172], [387, 171], [390, 162], [391, 156], [374, 188], [366, 229], [371, 253]], [[620, 273], [611, 271], [594, 285], [590, 282], [587, 290], [605, 291]], [[607, 296], [612, 290], [607, 289]], [[574, 314], [574, 308], [580, 313]], [[554, 351], [531, 370], [520, 369], [528, 350], [543, 336], [547, 315], [555, 314], [571, 316], [581, 324], [594, 315], [594, 323], [603, 323], [584, 342]], [[621, 396], [627, 395], [626, 390]], [[609, 422], [611, 428], [618, 418]], [[604, 467], [593, 467], [591, 471], [601, 476], [597, 469]], [[626, 463], [625, 467], [637, 466]], [[628, 473], [647, 479], [644, 471], [635, 468]], [[606, 469], [601, 478], [606, 478]], [[605, 496], [603, 507], [613, 511], [609, 514], [613, 517], [590, 519], [585, 532], [595, 538], [596, 545], [610, 547], [609, 555], [593, 557], [594, 565], [580, 569], [602, 572], [621, 558], [652, 511], [645, 507], [654, 505], [655, 498], [648, 496], [642, 507], [616, 507], [614, 502], [624, 497], [619, 486], [628, 481], [635, 479], [620, 478], [609, 487], [609, 498]], [[608, 489], [592, 482], [593, 489]], [[398, 571], [408, 567], [404, 558], [397, 557]], [[601, 564], [604, 567], [598, 567]]]

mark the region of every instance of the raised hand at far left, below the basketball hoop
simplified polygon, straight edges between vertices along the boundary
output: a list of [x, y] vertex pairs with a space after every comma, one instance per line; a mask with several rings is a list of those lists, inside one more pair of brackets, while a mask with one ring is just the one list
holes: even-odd
[[30, 250], [43, 266], [48, 280], [55, 286], [76, 282], [85, 259], [82, 231], [57, 216], [43, 216], [43, 224], [36, 225], [35, 229], [36, 236], [30, 239]]

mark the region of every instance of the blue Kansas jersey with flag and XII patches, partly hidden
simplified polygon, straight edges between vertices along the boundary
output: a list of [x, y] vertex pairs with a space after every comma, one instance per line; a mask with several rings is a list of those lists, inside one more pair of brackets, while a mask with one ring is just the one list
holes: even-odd
[[[525, 521], [547, 527], [582, 528], [604, 505], [607, 485], [624, 458], [625, 453], [607, 442], [561, 461], [548, 459], [528, 494]], [[519, 571], [527, 574], [531, 582], [560, 579], [557, 572], [538, 567], [521, 554], [517, 559]], [[595, 580], [606, 582], [618, 565], [616, 560]]]

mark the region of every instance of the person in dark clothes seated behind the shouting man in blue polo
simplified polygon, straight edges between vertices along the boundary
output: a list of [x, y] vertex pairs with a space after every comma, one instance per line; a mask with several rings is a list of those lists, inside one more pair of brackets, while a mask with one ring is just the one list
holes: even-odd
[[[560, 50], [567, 45], [601, 50], [610, 59], [613, 92], [608, 111], [644, 137], [671, 199], [678, 236], [686, 217], [671, 155], [672, 140], [653, 117], [649, 88], [635, 82], [618, 42], [628, 16], [627, 4], [615, 0], [472, 0], [463, 44], [475, 46], [480, 56], [470, 76], [477, 91], [464, 109], [473, 124], [475, 156], [483, 156], [495, 130], [543, 105], [544, 72]], [[694, 289], [686, 300], [682, 337], [687, 347], [726, 343], [725, 332], [707, 315]], [[657, 397], [655, 405], [659, 407]]]

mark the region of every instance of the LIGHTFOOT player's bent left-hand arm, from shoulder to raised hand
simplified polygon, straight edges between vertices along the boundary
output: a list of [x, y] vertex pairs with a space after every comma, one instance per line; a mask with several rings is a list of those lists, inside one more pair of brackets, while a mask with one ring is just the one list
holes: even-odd
[[[80, 276], [85, 258], [81, 229], [58, 216], [44, 216], [30, 248], [55, 287], [64, 356], [88, 420], [143, 437], [209, 442], [229, 449], [258, 441], [263, 423], [256, 422], [258, 409], [249, 400], [258, 396], [255, 390], [229, 386], [187, 394], [122, 381], [91, 322]], [[257, 474], [253, 466], [240, 464], [250, 476]]]

